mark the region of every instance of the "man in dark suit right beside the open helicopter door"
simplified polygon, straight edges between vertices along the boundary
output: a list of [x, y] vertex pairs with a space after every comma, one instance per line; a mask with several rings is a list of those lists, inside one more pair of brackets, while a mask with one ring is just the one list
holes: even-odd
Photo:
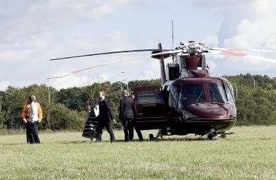
[[133, 138], [134, 119], [136, 116], [136, 107], [132, 97], [127, 95], [127, 91], [122, 91], [122, 99], [120, 100], [120, 120], [125, 133], [125, 141]]

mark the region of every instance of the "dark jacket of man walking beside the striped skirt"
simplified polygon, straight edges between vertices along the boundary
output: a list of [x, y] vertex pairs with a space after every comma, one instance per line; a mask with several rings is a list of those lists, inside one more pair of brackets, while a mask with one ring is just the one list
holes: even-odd
[[110, 104], [107, 100], [98, 102], [99, 106], [99, 121], [100, 124], [109, 123], [113, 120], [113, 112], [110, 109]]

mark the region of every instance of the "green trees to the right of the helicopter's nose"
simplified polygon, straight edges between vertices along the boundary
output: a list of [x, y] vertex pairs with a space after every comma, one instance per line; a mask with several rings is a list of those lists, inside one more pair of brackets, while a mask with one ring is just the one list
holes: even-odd
[[225, 78], [237, 91], [238, 125], [276, 124], [276, 78], [251, 74]]

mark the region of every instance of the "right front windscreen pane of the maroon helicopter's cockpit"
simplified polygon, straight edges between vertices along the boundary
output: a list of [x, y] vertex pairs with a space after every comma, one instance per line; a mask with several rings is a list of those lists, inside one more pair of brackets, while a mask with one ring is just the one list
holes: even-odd
[[224, 88], [217, 83], [208, 84], [211, 102], [227, 102]]

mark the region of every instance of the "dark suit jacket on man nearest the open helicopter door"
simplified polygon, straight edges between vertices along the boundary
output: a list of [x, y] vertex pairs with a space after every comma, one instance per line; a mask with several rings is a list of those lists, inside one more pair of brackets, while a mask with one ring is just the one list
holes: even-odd
[[135, 119], [136, 107], [131, 97], [125, 96], [120, 100], [120, 114], [119, 118], [121, 121], [125, 119]]

